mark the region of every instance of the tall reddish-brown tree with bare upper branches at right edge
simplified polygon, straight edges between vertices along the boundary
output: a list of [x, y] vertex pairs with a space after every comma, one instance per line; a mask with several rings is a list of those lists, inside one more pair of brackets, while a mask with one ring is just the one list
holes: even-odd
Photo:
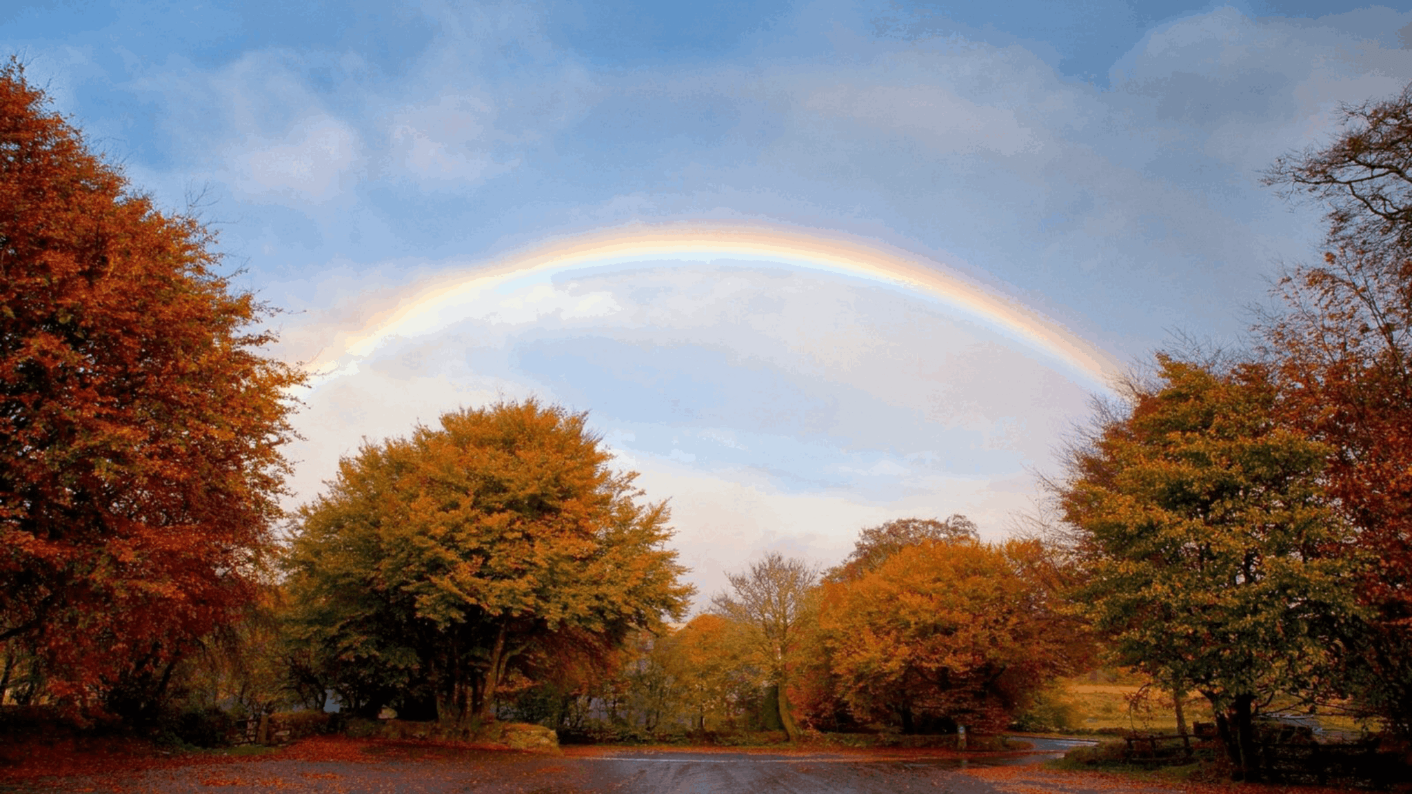
[[1332, 448], [1327, 489], [1374, 562], [1348, 689], [1412, 737], [1412, 86], [1343, 109], [1330, 144], [1268, 174], [1327, 209], [1324, 254], [1291, 267], [1262, 316], [1286, 421]]

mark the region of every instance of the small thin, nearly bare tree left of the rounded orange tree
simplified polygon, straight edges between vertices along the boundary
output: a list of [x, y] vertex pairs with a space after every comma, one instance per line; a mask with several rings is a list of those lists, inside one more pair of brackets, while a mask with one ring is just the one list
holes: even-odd
[[819, 569], [802, 559], [785, 559], [771, 551], [741, 574], [727, 574], [734, 593], [719, 593], [712, 610], [744, 632], [748, 658], [778, 691], [779, 722], [791, 742], [799, 725], [789, 709], [789, 675], [805, 626], [815, 616], [815, 581]]

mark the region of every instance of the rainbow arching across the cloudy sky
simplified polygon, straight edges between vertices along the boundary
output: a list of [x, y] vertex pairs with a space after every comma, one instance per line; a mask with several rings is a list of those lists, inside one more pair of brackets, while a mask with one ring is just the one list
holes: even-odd
[[418, 333], [428, 315], [443, 315], [477, 294], [525, 277], [631, 261], [722, 259], [770, 261], [891, 284], [971, 315], [1100, 387], [1107, 387], [1121, 372], [1113, 356], [1063, 325], [936, 261], [851, 235], [740, 222], [618, 226], [541, 243], [441, 275], [325, 348], [311, 369], [330, 365], [343, 369], [340, 363], [366, 357], [387, 339]]

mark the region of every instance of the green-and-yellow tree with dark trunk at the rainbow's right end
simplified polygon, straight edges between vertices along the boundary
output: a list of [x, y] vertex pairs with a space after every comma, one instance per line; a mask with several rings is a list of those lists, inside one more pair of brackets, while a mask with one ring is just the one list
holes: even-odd
[[1329, 448], [1278, 421], [1264, 367], [1158, 363], [1056, 483], [1086, 557], [1079, 603], [1121, 664], [1200, 691], [1254, 778], [1254, 713], [1310, 692], [1361, 615], [1353, 533], [1322, 489]]

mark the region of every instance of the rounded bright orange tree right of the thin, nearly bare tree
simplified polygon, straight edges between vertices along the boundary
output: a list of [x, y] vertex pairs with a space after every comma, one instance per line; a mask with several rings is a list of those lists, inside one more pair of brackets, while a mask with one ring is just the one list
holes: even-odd
[[923, 540], [874, 571], [826, 582], [819, 616], [833, 672], [861, 721], [998, 730], [1053, 677], [1079, 636], [1042, 579], [1038, 541]]

